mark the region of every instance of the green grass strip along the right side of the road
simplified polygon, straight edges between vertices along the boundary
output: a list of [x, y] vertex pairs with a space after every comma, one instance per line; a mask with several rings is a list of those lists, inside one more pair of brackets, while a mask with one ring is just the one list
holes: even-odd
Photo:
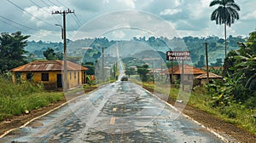
[[[161, 94], [169, 94], [172, 100], [177, 100], [177, 94], [179, 94], [179, 89], [177, 88], [171, 88], [170, 93], [168, 93], [166, 89], [169, 87], [166, 86], [170, 86], [169, 84], [155, 87], [154, 83], [143, 83], [143, 86], [154, 89], [154, 91]], [[227, 123], [235, 124], [237, 127], [256, 135], [256, 118], [254, 117], [256, 115], [256, 109], [248, 109], [237, 103], [232, 103], [226, 107], [212, 107], [212, 101], [211, 95], [207, 94], [207, 89], [197, 88], [191, 92], [188, 106], [207, 112], [212, 116], [218, 117]]]

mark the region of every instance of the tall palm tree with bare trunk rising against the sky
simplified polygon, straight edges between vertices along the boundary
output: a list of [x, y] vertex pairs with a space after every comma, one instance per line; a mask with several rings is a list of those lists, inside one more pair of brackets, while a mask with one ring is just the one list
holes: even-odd
[[240, 8], [234, 0], [213, 0], [210, 7], [215, 5], [219, 6], [212, 12], [211, 20], [215, 20], [217, 25], [224, 24], [225, 57], [227, 57], [227, 26], [231, 26], [235, 20], [239, 20], [237, 11], [240, 11]]

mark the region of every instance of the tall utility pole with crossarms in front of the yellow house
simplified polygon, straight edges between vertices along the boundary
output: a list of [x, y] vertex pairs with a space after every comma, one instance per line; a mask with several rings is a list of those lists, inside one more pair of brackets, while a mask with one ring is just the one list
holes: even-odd
[[67, 92], [67, 36], [66, 36], [66, 14], [74, 13], [74, 10], [71, 11], [70, 9], [63, 10], [63, 11], [55, 11], [52, 14], [62, 14], [63, 15], [63, 51], [64, 51], [64, 77], [63, 77], [63, 89], [64, 92]]

